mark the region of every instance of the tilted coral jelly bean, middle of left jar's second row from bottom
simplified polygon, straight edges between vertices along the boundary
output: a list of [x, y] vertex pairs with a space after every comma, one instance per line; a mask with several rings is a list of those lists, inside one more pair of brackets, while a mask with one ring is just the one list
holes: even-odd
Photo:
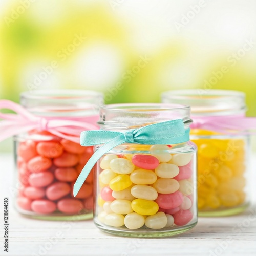
[[58, 200], [70, 193], [70, 185], [66, 182], [55, 182], [47, 187], [46, 196], [50, 200]]

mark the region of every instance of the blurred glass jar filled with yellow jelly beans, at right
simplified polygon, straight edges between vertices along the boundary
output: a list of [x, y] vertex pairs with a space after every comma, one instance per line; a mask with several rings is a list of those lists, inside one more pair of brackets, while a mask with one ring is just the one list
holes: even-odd
[[236, 130], [229, 120], [239, 122], [244, 118], [245, 94], [176, 90], [163, 93], [162, 101], [191, 106], [194, 124], [190, 138], [198, 146], [199, 216], [228, 216], [244, 211], [249, 205], [249, 136]]

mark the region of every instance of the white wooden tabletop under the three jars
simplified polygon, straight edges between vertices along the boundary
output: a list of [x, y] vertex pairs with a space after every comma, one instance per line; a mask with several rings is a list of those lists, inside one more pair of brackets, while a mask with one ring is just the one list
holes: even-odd
[[[253, 164], [256, 164], [254, 155]], [[92, 220], [40, 221], [27, 219], [13, 208], [12, 156], [0, 154], [0, 255], [256, 255], [256, 186], [252, 206], [242, 215], [199, 218], [196, 227], [177, 237], [122, 238], [101, 232]], [[255, 168], [252, 181], [256, 183]], [[4, 251], [4, 198], [9, 198], [9, 250]]]

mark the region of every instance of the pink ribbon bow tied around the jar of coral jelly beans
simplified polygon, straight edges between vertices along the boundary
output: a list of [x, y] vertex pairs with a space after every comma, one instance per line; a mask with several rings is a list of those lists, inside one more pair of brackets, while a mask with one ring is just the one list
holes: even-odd
[[[9, 109], [16, 114], [4, 114], [1, 109]], [[80, 133], [84, 130], [98, 130], [98, 115], [89, 117], [40, 117], [31, 114], [23, 106], [10, 100], [0, 100], [0, 141], [13, 135], [33, 129], [48, 131], [58, 137], [80, 144]]]

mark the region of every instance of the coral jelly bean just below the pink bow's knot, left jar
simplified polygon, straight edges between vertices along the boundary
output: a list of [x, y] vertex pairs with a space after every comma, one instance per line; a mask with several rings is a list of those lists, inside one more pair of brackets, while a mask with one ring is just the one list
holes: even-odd
[[55, 158], [63, 153], [63, 146], [59, 142], [44, 141], [36, 145], [36, 151], [40, 156]]

